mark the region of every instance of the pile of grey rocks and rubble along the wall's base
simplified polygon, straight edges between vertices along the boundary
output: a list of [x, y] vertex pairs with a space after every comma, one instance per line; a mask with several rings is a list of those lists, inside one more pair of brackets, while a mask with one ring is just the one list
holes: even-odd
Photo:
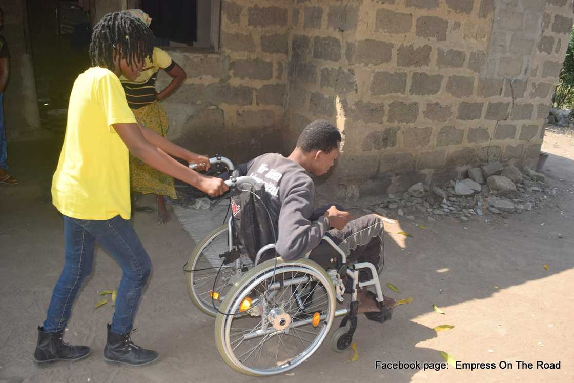
[[485, 214], [522, 213], [543, 206], [548, 195], [556, 189], [545, 185], [545, 176], [523, 167], [499, 162], [468, 169], [468, 178], [448, 181], [443, 187], [426, 188], [414, 184], [408, 192], [388, 195], [378, 206], [371, 207], [378, 214], [396, 213], [414, 220], [414, 214], [424, 214], [431, 222], [441, 216], [453, 216], [463, 222]]

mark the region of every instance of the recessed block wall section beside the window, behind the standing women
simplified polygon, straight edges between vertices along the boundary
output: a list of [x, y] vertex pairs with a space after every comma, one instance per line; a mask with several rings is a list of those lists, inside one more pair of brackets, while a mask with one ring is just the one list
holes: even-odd
[[[188, 75], [163, 102], [168, 138], [234, 161], [281, 150], [291, 5], [289, 0], [223, 1], [220, 53], [168, 49]], [[160, 71], [157, 88], [169, 80]]]

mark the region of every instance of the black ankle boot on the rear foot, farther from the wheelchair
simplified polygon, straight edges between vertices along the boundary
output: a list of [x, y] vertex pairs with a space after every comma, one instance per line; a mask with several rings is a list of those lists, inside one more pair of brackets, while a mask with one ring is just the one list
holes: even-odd
[[34, 361], [45, 363], [53, 361], [77, 361], [90, 355], [88, 346], [72, 346], [62, 341], [64, 330], [44, 331], [38, 326], [38, 345], [34, 351]]

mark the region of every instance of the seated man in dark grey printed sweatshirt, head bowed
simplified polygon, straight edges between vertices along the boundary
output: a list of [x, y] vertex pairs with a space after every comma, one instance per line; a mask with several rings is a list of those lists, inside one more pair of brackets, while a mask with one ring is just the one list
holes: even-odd
[[[247, 176], [265, 185], [264, 202], [278, 233], [277, 254], [284, 260], [305, 256], [325, 269], [340, 267], [340, 257], [322, 240], [332, 239], [346, 254], [349, 264], [370, 262], [378, 273], [382, 270], [383, 222], [375, 214], [352, 219], [340, 205], [313, 207], [315, 184], [310, 175], [321, 176], [329, 171], [339, 156], [339, 130], [325, 120], [311, 122], [299, 136], [288, 157], [266, 153], [242, 165]], [[343, 273], [342, 277], [346, 277]], [[369, 269], [362, 269], [359, 281], [371, 278]], [[350, 282], [350, 279], [347, 280]], [[347, 286], [347, 292], [356, 287]], [[379, 303], [376, 295], [366, 288], [358, 291], [357, 313], [368, 319], [384, 322], [383, 309], [394, 306], [394, 300], [384, 297]]]

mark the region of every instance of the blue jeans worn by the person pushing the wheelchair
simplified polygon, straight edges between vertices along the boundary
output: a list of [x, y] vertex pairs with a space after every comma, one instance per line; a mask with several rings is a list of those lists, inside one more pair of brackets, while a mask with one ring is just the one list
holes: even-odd
[[66, 327], [82, 281], [92, 271], [96, 242], [123, 271], [111, 331], [115, 334], [131, 331], [139, 298], [152, 271], [152, 261], [130, 221], [119, 215], [108, 220], [75, 219], [65, 215], [63, 218], [65, 264], [52, 293], [44, 331], [55, 332]]

